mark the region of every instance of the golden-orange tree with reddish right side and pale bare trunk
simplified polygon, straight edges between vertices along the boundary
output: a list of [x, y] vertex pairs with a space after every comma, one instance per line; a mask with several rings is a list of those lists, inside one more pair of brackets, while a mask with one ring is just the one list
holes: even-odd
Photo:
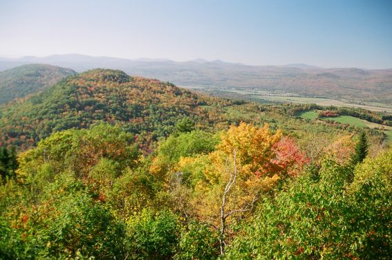
[[194, 188], [193, 205], [200, 217], [219, 227], [221, 254], [229, 220], [250, 212], [263, 193], [281, 178], [296, 175], [295, 165], [300, 168], [306, 163], [295, 142], [282, 138], [281, 131], [272, 133], [268, 124], [230, 127], [221, 134], [216, 151], [202, 158], [196, 159], [204, 167]]

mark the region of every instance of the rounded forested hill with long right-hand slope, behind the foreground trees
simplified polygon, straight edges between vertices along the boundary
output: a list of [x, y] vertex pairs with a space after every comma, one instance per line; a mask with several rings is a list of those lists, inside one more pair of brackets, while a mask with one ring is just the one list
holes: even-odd
[[86, 128], [102, 120], [133, 133], [146, 152], [187, 120], [192, 121], [192, 129], [206, 131], [227, 129], [239, 122], [268, 122], [297, 137], [318, 135], [328, 142], [354, 131], [352, 127], [304, 124], [288, 115], [291, 107], [208, 97], [171, 83], [95, 69], [68, 77], [26, 100], [0, 106], [0, 142], [26, 149], [55, 131]]

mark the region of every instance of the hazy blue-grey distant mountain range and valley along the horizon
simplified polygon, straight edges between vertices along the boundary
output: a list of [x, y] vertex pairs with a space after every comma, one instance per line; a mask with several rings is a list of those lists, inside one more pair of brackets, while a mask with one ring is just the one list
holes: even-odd
[[75, 71], [91, 68], [119, 69], [130, 75], [156, 78], [178, 86], [201, 86], [210, 90], [240, 88], [392, 104], [391, 69], [318, 68], [307, 64], [248, 66], [203, 59], [174, 62], [165, 59], [51, 55], [0, 59], [0, 70], [32, 62], [73, 68]]

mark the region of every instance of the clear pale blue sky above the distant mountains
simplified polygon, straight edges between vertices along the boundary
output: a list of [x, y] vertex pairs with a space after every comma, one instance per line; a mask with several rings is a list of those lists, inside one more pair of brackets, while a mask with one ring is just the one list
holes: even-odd
[[392, 68], [392, 1], [0, 0], [0, 56]]

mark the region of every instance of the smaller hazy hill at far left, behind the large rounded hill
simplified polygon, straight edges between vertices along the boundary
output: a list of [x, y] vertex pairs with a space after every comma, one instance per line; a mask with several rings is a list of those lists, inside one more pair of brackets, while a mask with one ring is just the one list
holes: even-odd
[[45, 64], [28, 64], [0, 72], [0, 104], [46, 89], [76, 72]]

